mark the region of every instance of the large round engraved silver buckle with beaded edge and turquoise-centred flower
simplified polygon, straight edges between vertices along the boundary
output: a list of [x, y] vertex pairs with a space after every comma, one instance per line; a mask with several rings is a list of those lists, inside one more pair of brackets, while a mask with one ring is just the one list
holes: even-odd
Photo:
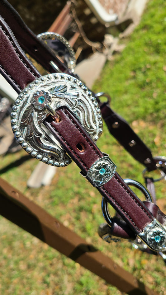
[[67, 74], [49, 74], [29, 84], [12, 107], [11, 124], [17, 141], [32, 157], [53, 166], [66, 166], [71, 159], [43, 126], [53, 110], [66, 106], [96, 141], [102, 133], [102, 115], [92, 92]]

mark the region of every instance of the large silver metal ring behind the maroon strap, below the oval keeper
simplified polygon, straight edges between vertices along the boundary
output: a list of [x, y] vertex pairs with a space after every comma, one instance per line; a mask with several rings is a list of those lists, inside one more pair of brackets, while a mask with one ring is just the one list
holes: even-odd
[[[138, 181], [136, 180], [133, 180], [133, 179], [124, 179], [125, 183], [127, 185], [132, 185], [132, 186], [135, 186], [137, 189], [139, 189], [145, 196], [145, 199], [152, 202], [152, 198], [148, 192], [148, 190], [146, 190], [146, 188]], [[109, 226], [111, 226], [112, 224], [112, 217], [109, 213], [109, 210], [108, 210], [108, 201], [102, 197], [102, 214], [106, 220], [106, 222], [109, 224]]]

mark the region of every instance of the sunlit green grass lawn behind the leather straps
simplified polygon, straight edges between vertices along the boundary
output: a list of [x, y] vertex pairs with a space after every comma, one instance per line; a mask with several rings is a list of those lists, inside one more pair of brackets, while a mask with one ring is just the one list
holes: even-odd
[[[165, 15], [165, 1], [149, 1], [140, 25], [130, 37], [122, 40], [126, 48], [106, 63], [93, 87], [96, 92], [105, 91], [111, 95], [113, 110], [131, 124], [154, 156], [166, 156]], [[143, 166], [110, 136], [105, 125], [97, 145], [110, 154], [123, 178], [144, 182]], [[1, 157], [1, 167], [24, 155], [22, 150]], [[59, 168], [49, 187], [27, 189], [26, 180], [36, 165], [37, 160], [30, 159], [11, 168], [2, 177], [141, 282], [165, 295], [166, 266], [161, 258], [134, 250], [127, 241], [109, 245], [98, 237], [98, 225], [104, 222], [101, 196], [79, 175], [78, 167], [72, 163]], [[164, 180], [155, 187], [158, 204], [166, 211]], [[115, 287], [2, 217], [0, 233], [0, 294], [121, 294]]]

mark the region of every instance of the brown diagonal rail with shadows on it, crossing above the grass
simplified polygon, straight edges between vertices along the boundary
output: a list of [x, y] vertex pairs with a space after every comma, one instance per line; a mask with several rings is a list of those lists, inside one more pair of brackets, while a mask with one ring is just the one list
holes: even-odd
[[157, 295], [0, 178], [0, 214], [129, 295]]

